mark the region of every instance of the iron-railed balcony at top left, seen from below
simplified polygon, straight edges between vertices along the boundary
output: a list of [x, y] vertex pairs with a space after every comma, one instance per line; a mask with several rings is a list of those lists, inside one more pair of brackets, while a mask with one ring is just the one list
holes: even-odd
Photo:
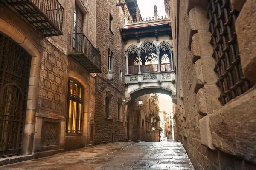
[[45, 37], [62, 35], [64, 8], [58, 0], [6, 0]]

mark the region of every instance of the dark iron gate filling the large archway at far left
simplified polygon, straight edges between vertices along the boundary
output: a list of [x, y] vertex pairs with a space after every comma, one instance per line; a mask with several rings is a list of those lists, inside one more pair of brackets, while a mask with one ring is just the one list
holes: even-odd
[[20, 154], [31, 56], [0, 33], [0, 157]]

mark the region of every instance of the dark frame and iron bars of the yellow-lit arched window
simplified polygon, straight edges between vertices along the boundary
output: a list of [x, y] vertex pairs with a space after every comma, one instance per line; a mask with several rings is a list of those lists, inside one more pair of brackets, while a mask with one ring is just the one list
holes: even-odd
[[[74, 83], [77, 84], [77, 95], [70, 94], [70, 83], [73, 81]], [[81, 88], [81, 91], [79, 91], [79, 88]], [[72, 91], [73, 91], [72, 87]], [[84, 87], [79, 83], [76, 79], [73, 79], [71, 77], [68, 78], [68, 91], [67, 91], [67, 118], [66, 118], [66, 135], [67, 136], [81, 136], [83, 135], [83, 119], [84, 119]], [[81, 94], [81, 97], [79, 97]], [[78, 96], [78, 97], [76, 97]], [[69, 127], [73, 127], [73, 116], [75, 114], [70, 113], [70, 101], [72, 102], [77, 102], [76, 104], [76, 124], [75, 124], [75, 129], [70, 129]], [[80, 130], [79, 130], [79, 105], [81, 105], [81, 110], [80, 110]], [[73, 104], [72, 104], [73, 107]], [[73, 110], [73, 109], [72, 109]], [[72, 116], [70, 118], [70, 115]], [[71, 123], [71, 125], [70, 125]], [[73, 130], [73, 132], [71, 131]], [[74, 132], [76, 131], [76, 132]]]

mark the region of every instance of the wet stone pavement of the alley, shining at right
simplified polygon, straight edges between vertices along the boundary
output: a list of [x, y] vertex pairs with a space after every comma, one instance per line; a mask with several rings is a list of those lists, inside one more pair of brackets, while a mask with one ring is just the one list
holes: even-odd
[[180, 142], [117, 142], [0, 167], [0, 170], [194, 170]]

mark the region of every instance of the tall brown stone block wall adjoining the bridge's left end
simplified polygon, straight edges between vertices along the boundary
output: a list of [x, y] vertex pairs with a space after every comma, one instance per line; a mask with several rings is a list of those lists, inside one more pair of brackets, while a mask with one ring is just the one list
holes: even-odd
[[[117, 102], [124, 99], [124, 73], [125, 55], [123, 51], [122, 37], [119, 32], [124, 24], [122, 7], [116, 6], [113, 0], [96, 0], [96, 47], [101, 54], [102, 73], [96, 75], [95, 95], [95, 143], [125, 141], [125, 104], [122, 104], [121, 120], [117, 119]], [[109, 14], [113, 17], [112, 31], [109, 30]], [[113, 51], [113, 81], [111, 85], [99, 85], [106, 83], [108, 71], [108, 48]], [[122, 78], [120, 78], [120, 71]], [[111, 99], [110, 119], [105, 115], [105, 97], [109, 91]], [[114, 135], [114, 140], [112, 140]]]

